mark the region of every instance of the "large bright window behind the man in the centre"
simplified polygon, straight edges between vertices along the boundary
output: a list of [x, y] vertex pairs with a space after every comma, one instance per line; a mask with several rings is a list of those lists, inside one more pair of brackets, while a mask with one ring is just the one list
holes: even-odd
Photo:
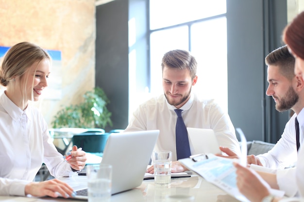
[[141, 72], [137, 48], [147, 36], [142, 18], [133, 14], [129, 20], [129, 118], [139, 104], [163, 93], [161, 60], [173, 49], [189, 50], [198, 62], [192, 91], [216, 99], [228, 112], [226, 0], [150, 0], [149, 6], [150, 27], [144, 30], [150, 36], [147, 73]]

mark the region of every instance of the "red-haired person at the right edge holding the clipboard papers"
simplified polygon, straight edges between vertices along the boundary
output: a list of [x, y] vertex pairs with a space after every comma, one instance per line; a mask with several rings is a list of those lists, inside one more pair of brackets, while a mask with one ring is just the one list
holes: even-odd
[[[295, 57], [295, 73], [297, 82], [293, 82], [293, 88], [295, 88], [296, 92], [302, 91], [303, 89], [303, 79], [304, 79], [304, 12], [297, 15], [284, 29], [283, 31], [283, 41], [287, 44], [289, 52]], [[301, 79], [302, 78], [302, 79]], [[292, 94], [290, 94], [292, 96]], [[304, 102], [303, 100], [303, 93], [299, 93], [299, 101]], [[303, 108], [303, 106], [302, 106]], [[303, 127], [304, 127], [304, 109], [300, 109], [300, 105], [297, 108], [294, 108], [294, 111], [297, 114], [297, 120], [299, 122], [299, 128], [303, 135]], [[301, 134], [301, 133], [300, 133]], [[300, 136], [301, 137], [301, 136]], [[283, 137], [282, 137], [283, 138]], [[300, 145], [298, 144], [300, 143]], [[303, 202], [304, 201], [304, 178], [303, 178], [303, 171], [304, 171], [304, 148], [303, 148], [303, 138], [302, 140], [298, 140], [297, 144], [293, 145], [299, 148], [298, 150], [298, 161], [297, 167], [292, 169], [284, 169], [281, 171], [288, 171], [288, 178], [286, 179], [296, 179], [297, 186], [295, 186], [294, 182], [285, 181], [286, 186], [289, 186], [289, 189], [295, 192], [297, 189], [299, 190], [300, 196], [302, 199], [286, 199], [283, 201], [288, 202]], [[281, 151], [284, 153], [284, 151]], [[246, 167], [242, 167], [241, 165], [236, 164], [236, 184], [238, 189], [245, 197], [247, 197], [251, 202], [278, 202], [281, 201], [280, 198], [274, 197], [270, 194], [269, 186], [267, 186], [262, 179], [256, 173], [251, 171]], [[277, 173], [282, 174], [282, 173]], [[271, 174], [270, 174], [271, 175]], [[275, 176], [275, 174], [272, 174]], [[276, 178], [271, 180], [268, 178], [269, 181], [272, 183], [276, 183]], [[265, 178], [264, 178], [265, 179]], [[268, 182], [271, 185], [271, 182]], [[280, 187], [281, 188], [281, 187]], [[288, 196], [288, 195], [287, 195]]]

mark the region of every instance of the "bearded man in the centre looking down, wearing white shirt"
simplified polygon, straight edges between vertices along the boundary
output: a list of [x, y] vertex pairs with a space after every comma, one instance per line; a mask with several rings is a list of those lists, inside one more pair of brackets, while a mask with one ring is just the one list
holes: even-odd
[[[174, 109], [182, 109], [186, 127], [213, 129], [219, 145], [240, 154], [235, 128], [228, 114], [214, 100], [201, 100], [191, 93], [198, 79], [195, 58], [185, 50], [171, 50], [164, 55], [161, 66], [164, 94], [141, 104], [125, 131], [159, 129], [155, 150], [171, 151], [171, 171], [185, 171], [186, 168], [177, 162], [175, 144], [177, 115]], [[152, 168], [148, 172], [152, 172]]]

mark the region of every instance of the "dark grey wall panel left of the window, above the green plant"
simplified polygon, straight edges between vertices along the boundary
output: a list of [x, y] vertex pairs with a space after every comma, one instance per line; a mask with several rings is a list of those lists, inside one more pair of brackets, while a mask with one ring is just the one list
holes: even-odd
[[111, 103], [113, 127], [128, 124], [128, 0], [115, 0], [96, 7], [96, 86]]

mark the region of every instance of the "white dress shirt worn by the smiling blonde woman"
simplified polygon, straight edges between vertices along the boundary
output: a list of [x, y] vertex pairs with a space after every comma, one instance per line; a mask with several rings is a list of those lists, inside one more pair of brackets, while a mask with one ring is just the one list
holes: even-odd
[[68, 176], [71, 168], [52, 143], [38, 109], [18, 108], [0, 95], [0, 195], [24, 196], [42, 163], [54, 177]]

